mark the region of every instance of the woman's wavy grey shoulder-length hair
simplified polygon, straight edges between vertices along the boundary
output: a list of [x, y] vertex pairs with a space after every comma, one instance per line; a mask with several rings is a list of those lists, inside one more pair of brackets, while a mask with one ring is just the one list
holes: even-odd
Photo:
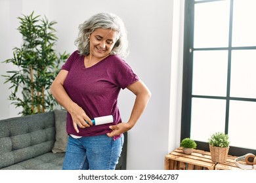
[[110, 55], [119, 55], [121, 58], [128, 56], [127, 31], [121, 18], [112, 13], [102, 12], [95, 14], [83, 24], [79, 25], [79, 33], [75, 39], [75, 46], [79, 54], [88, 56], [90, 54], [89, 36], [95, 29], [112, 29], [117, 33], [117, 40]]

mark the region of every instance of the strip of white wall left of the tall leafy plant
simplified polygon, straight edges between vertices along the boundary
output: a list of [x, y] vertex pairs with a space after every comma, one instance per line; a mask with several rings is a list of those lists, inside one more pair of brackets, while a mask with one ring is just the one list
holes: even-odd
[[12, 57], [12, 48], [20, 45], [21, 36], [16, 28], [18, 27], [17, 16], [22, 11], [22, 1], [19, 0], [0, 0], [0, 119], [18, 116], [19, 108], [11, 105], [9, 98], [10, 84], [3, 84], [5, 78], [1, 75], [7, 75], [7, 71], [16, 69], [13, 65], [2, 63]]

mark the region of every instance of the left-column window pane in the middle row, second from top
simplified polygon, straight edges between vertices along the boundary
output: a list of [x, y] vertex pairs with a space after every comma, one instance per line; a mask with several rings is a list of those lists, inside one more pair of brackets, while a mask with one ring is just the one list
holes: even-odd
[[226, 96], [228, 51], [195, 51], [192, 94]]

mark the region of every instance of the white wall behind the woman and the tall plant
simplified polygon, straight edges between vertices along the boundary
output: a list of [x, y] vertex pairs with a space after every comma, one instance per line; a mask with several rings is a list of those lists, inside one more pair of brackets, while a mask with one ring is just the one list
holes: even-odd
[[[16, 27], [21, 14], [47, 16], [58, 22], [58, 52], [75, 50], [78, 25], [97, 12], [119, 15], [128, 31], [131, 54], [127, 62], [146, 83], [152, 98], [142, 118], [129, 131], [127, 169], [163, 169], [164, 156], [179, 146], [182, 82], [182, 8], [184, 0], [1, 0], [0, 61], [12, 57], [20, 46]], [[0, 63], [0, 75], [12, 68]], [[17, 115], [10, 102], [8, 84], [0, 78], [0, 119]], [[171, 94], [170, 94], [171, 93]], [[134, 95], [121, 91], [119, 108], [128, 120]], [[171, 99], [171, 102], [170, 102]]]

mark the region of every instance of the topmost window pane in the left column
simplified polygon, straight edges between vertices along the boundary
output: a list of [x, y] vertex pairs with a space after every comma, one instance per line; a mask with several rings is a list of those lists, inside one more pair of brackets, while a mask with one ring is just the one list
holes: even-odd
[[194, 48], [228, 46], [229, 1], [198, 3], [194, 15]]

